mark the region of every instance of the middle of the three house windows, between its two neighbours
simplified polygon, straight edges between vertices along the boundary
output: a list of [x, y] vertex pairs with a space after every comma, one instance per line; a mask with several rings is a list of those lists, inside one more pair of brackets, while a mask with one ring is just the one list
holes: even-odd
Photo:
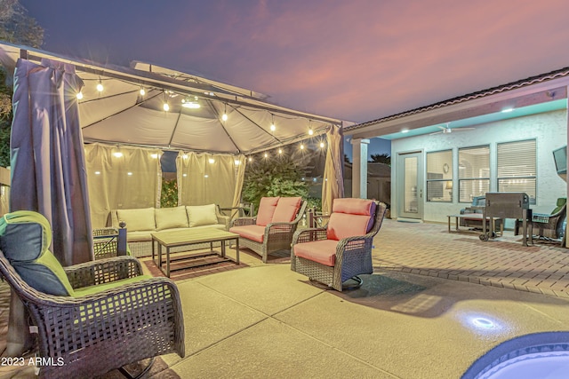
[[459, 201], [472, 202], [490, 190], [490, 146], [459, 149]]

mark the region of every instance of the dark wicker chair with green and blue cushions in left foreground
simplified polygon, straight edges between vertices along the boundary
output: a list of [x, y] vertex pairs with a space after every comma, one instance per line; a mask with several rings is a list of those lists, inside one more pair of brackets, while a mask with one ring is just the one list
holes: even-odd
[[170, 352], [184, 357], [172, 280], [142, 275], [128, 256], [62, 267], [48, 249], [51, 240], [39, 213], [0, 220], [0, 273], [37, 328], [38, 356], [55, 362], [40, 368], [41, 377], [94, 377]]

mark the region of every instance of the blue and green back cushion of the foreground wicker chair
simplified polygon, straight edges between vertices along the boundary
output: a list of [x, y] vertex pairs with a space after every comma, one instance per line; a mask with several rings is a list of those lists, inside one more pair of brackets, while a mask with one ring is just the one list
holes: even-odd
[[72, 296], [67, 274], [48, 249], [51, 243], [51, 226], [39, 213], [18, 210], [0, 219], [0, 249], [21, 279], [45, 294]]

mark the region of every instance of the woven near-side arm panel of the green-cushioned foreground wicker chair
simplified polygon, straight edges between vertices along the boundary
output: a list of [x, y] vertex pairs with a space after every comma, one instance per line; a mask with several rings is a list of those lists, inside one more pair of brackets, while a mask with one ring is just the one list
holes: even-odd
[[109, 338], [140, 341], [148, 338], [144, 330], [164, 336], [160, 346], [165, 352], [185, 355], [180, 293], [168, 278], [143, 279], [80, 297], [42, 296], [29, 306], [44, 343], [58, 346], [57, 356], [64, 359], [73, 358], [77, 350], [76, 344], [64, 343], [67, 336], [84, 338], [92, 349]]

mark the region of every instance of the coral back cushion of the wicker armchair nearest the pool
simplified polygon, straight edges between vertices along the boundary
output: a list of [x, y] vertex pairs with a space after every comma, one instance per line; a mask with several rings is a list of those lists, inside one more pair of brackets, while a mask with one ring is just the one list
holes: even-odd
[[364, 199], [336, 199], [326, 230], [328, 240], [365, 235], [373, 227], [375, 202]]

